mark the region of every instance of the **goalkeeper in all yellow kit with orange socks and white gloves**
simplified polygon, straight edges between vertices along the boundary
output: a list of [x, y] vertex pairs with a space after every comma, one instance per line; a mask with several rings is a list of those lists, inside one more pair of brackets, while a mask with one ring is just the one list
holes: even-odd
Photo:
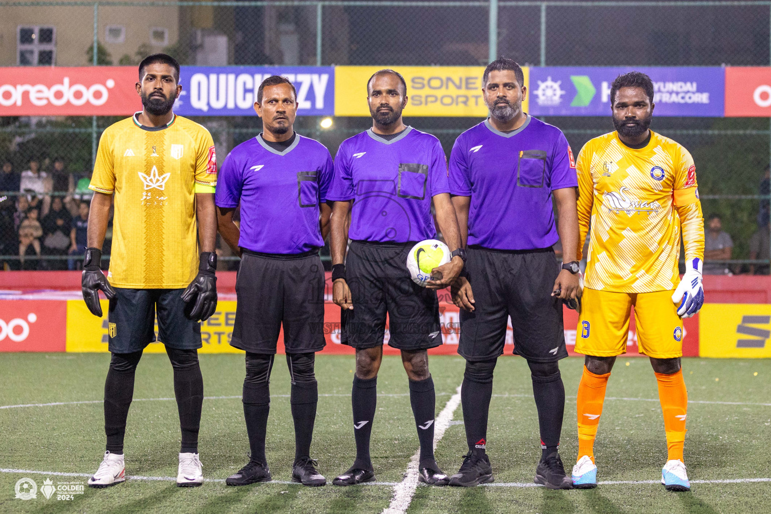
[[586, 355], [573, 468], [579, 489], [597, 486], [594, 438], [611, 369], [626, 351], [632, 306], [640, 353], [651, 360], [664, 412], [668, 460], [662, 484], [670, 491], [691, 486], [682, 456], [688, 394], [680, 368], [681, 317], [693, 316], [704, 302], [704, 220], [691, 154], [648, 129], [653, 109], [647, 75], [618, 76], [611, 86], [615, 132], [591, 139], [578, 154], [579, 259], [591, 225], [575, 346]]

